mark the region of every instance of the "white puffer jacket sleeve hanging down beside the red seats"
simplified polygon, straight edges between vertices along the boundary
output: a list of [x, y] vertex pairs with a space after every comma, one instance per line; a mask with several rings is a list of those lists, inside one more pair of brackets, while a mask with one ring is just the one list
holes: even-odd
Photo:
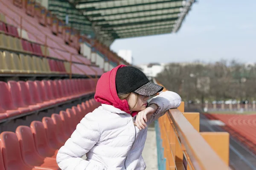
[[56, 161], [61, 170], [103, 170], [102, 167], [81, 158], [98, 142], [99, 136], [99, 124], [88, 113], [64, 146], [58, 150]]

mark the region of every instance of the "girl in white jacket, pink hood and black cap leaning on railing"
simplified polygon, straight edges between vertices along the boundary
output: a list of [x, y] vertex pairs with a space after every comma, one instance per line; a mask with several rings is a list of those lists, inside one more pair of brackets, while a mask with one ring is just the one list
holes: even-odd
[[[102, 75], [95, 100], [102, 106], [88, 113], [60, 148], [62, 170], [145, 170], [142, 151], [147, 127], [181, 98], [172, 91], [153, 97], [163, 87], [135, 67], [119, 65]], [[87, 159], [81, 158], [86, 154]]]

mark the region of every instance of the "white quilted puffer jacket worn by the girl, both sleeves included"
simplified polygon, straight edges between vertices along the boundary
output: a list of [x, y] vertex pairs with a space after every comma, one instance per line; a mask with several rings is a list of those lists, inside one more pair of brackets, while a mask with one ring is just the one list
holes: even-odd
[[[150, 124], [168, 109], [177, 108], [181, 98], [172, 91], [155, 96], [149, 103], [158, 105]], [[102, 104], [88, 113], [60, 148], [57, 163], [62, 170], [145, 170], [142, 157], [147, 128], [134, 126], [131, 114]], [[87, 153], [87, 160], [81, 158]]]

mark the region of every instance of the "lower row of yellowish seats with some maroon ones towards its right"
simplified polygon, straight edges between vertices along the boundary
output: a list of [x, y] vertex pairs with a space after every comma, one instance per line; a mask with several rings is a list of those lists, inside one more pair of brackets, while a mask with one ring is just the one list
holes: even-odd
[[55, 59], [0, 51], [0, 73], [69, 74], [70, 63]]

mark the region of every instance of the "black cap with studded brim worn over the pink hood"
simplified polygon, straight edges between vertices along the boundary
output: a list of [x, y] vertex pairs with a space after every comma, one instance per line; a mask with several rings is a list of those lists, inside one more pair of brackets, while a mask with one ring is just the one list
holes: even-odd
[[116, 72], [117, 94], [134, 92], [142, 96], [152, 96], [162, 90], [162, 86], [150, 82], [138, 68], [126, 66], [119, 68]]

